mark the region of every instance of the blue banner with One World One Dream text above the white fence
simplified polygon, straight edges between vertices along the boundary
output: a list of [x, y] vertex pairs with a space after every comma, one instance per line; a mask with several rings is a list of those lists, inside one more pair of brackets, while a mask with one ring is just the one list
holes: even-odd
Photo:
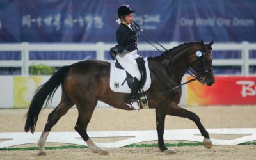
[[254, 0], [0, 1], [0, 42], [115, 42], [122, 4], [157, 41], [256, 42]]

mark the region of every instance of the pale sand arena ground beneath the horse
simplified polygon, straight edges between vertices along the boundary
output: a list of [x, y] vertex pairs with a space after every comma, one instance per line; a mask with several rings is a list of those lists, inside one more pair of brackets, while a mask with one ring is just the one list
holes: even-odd
[[[207, 128], [255, 128], [256, 106], [208, 106], [186, 107], [195, 112]], [[0, 132], [24, 132], [24, 115], [28, 109], [0, 109]], [[53, 108], [40, 113], [35, 132], [42, 132], [47, 116]], [[77, 109], [72, 108], [52, 128], [52, 131], [74, 131]], [[156, 119], [154, 109], [124, 111], [112, 108], [98, 108], [93, 113], [88, 131], [131, 131], [154, 130]], [[165, 129], [197, 129], [185, 118], [166, 116]], [[239, 136], [210, 135], [211, 138], [233, 139]], [[97, 140], [95, 140], [97, 141]], [[165, 141], [177, 143], [177, 141]], [[150, 143], [156, 143], [150, 142]], [[63, 145], [63, 144], [61, 144]], [[18, 147], [36, 147], [36, 144]], [[54, 144], [46, 144], [51, 147]], [[170, 147], [169, 147], [170, 148]], [[35, 150], [0, 151], [0, 159], [256, 159], [256, 145], [172, 147], [175, 155], [159, 152], [158, 147], [107, 148], [109, 156], [93, 154], [88, 149], [47, 150], [46, 156], [37, 156]]]

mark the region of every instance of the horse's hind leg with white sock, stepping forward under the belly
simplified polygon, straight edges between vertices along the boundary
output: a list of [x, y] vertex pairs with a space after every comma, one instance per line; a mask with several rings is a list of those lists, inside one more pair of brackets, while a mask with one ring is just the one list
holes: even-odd
[[81, 106], [77, 106], [78, 109], [78, 118], [75, 126], [75, 130], [80, 134], [80, 136], [83, 138], [83, 140], [86, 142], [90, 150], [92, 150], [93, 153], [99, 153], [100, 155], [107, 155], [108, 151], [104, 150], [102, 148], [97, 147], [93, 143], [93, 141], [90, 139], [90, 137], [87, 134], [87, 126], [92, 118], [92, 113], [95, 109], [95, 105], [88, 105], [84, 104], [83, 106], [86, 106], [86, 108], [81, 108]]

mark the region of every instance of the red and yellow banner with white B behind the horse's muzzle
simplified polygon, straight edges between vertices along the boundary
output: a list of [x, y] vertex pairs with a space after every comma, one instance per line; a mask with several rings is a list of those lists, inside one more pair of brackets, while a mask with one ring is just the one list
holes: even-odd
[[215, 76], [212, 86], [202, 85], [198, 81], [189, 83], [187, 104], [256, 104], [256, 76]]

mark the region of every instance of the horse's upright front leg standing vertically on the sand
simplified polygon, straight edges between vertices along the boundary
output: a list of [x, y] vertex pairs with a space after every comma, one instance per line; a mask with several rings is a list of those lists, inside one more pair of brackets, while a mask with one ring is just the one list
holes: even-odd
[[165, 152], [166, 154], [176, 154], [175, 150], [168, 149], [164, 145], [164, 122], [165, 122], [165, 114], [161, 111], [161, 109], [156, 109], [156, 129], [158, 134], [158, 146], [161, 152]]

